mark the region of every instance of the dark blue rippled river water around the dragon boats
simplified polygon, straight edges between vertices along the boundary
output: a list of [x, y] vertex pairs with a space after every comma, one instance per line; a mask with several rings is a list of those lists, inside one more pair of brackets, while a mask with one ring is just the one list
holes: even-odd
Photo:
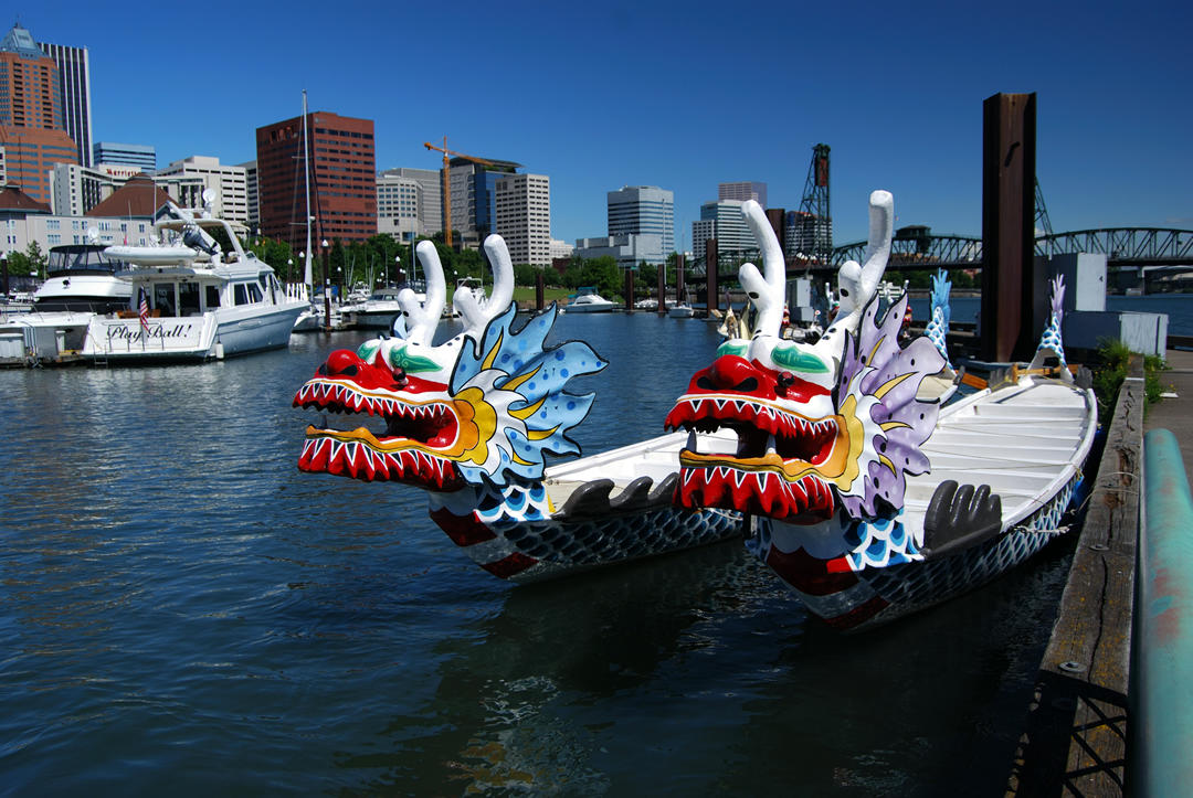
[[[420, 491], [298, 472], [291, 397], [364, 336], [0, 372], [0, 793], [1002, 793], [1064, 543], [852, 637], [736, 542], [513, 587]], [[586, 453], [660, 433], [718, 342], [556, 338], [611, 361]]]

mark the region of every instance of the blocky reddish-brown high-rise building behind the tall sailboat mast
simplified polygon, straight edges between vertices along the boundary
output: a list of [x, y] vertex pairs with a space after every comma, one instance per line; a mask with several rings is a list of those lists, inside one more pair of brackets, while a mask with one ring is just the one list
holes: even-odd
[[307, 216], [316, 240], [364, 241], [377, 235], [377, 167], [372, 119], [329, 111], [307, 115], [310, 209], [302, 148], [303, 117], [256, 129], [258, 203], [261, 233], [305, 246]]

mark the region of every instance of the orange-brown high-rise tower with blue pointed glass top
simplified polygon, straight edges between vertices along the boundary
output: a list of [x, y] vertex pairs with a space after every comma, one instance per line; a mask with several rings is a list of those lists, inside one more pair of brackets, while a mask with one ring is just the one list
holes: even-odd
[[0, 41], [0, 147], [8, 183], [47, 205], [54, 166], [79, 162], [66, 132], [58, 68], [20, 25]]

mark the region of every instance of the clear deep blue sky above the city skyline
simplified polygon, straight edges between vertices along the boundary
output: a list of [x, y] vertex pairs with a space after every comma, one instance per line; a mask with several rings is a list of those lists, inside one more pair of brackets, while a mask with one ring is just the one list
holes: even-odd
[[[1135, 5], [1135, 4], [1132, 4]], [[270, 10], [273, 10], [272, 12]], [[981, 234], [982, 101], [1036, 92], [1056, 231], [1193, 229], [1193, 5], [1018, 2], [94, 4], [18, 7], [91, 52], [97, 141], [255, 157], [258, 126], [371, 118], [377, 167], [438, 168], [422, 142], [551, 178], [551, 234], [606, 234], [605, 193], [675, 192], [676, 243], [717, 184], [798, 208], [832, 147], [836, 243], [873, 188], [897, 224]], [[16, 19], [7, 20], [11, 25]]]

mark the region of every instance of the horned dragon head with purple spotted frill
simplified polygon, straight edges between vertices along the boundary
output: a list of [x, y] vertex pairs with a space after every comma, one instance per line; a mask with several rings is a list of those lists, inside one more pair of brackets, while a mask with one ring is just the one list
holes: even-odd
[[879, 516], [902, 506], [904, 474], [927, 469], [920, 445], [935, 426], [937, 404], [916, 398], [921, 379], [942, 358], [926, 339], [898, 345], [907, 297], [880, 311], [877, 289], [890, 254], [894, 202], [870, 198], [865, 264], [837, 274], [840, 308], [815, 344], [780, 338], [784, 258], [762, 209], [742, 212], [762, 254], [738, 277], [756, 309], [752, 338], [731, 339], [698, 372], [668, 414], [670, 429], [737, 433], [734, 452], [680, 453], [676, 501], [723, 507], [786, 524], [814, 525], [835, 513]]

